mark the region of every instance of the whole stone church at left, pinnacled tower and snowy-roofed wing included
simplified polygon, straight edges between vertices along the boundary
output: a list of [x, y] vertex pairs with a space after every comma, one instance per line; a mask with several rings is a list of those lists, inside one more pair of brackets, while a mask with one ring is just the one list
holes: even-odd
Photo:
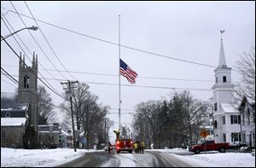
[[17, 100], [2, 102], [1, 93], [1, 147], [21, 148], [26, 125], [38, 132], [38, 55], [33, 53], [32, 67], [26, 67], [25, 56], [19, 62]]

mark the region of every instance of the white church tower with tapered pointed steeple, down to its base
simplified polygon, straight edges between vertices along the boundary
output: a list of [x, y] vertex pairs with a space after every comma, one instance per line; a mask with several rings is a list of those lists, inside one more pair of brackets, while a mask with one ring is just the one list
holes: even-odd
[[218, 67], [214, 70], [213, 129], [215, 142], [234, 144], [240, 135], [240, 113], [234, 107], [234, 84], [231, 83], [231, 67], [227, 67], [223, 39], [220, 41]]

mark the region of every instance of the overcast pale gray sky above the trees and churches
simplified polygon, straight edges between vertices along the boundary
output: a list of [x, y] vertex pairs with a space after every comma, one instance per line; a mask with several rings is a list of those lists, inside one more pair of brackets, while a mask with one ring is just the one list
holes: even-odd
[[[20, 14], [33, 16], [55, 26], [81, 34], [100, 38], [112, 43], [119, 42], [119, 14], [121, 15], [121, 44], [135, 49], [143, 49], [158, 55], [149, 55], [135, 49], [121, 48], [121, 58], [138, 73], [140, 86], [167, 88], [204, 89], [191, 90], [195, 98], [207, 101], [212, 96], [214, 67], [206, 67], [188, 62], [177, 61], [159, 55], [165, 55], [185, 61], [218, 66], [220, 46], [219, 29], [224, 29], [224, 52], [228, 67], [236, 66], [242, 51], [249, 51], [255, 44], [255, 2], [13, 2]], [[3, 9], [4, 8], [4, 9]], [[11, 3], [1, 1], [1, 12], [15, 31], [23, 28], [18, 14]], [[26, 26], [36, 26], [34, 20], [21, 16]], [[4, 19], [4, 18], [3, 18]], [[67, 32], [55, 26], [38, 21], [44, 36], [49, 41], [55, 54], [68, 71], [91, 72], [118, 75], [119, 48], [112, 43], [102, 42], [73, 32]], [[55, 57], [41, 32], [32, 32], [44, 53], [58, 70], [65, 71]], [[9, 34], [1, 20], [1, 35]], [[26, 30], [18, 35], [31, 51], [38, 55], [38, 61], [46, 69], [55, 69], [38, 45], [34, 43]], [[7, 41], [20, 53], [20, 47], [10, 37]], [[20, 41], [19, 41], [20, 43]], [[32, 55], [22, 48], [32, 59]], [[26, 63], [31, 65], [26, 58]], [[1, 42], [1, 67], [12, 75], [18, 75], [18, 58]], [[15, 67], [9, 67], [15, 66]], [[39, 66], [44, 78], [53, 78]], [[63, 78], [60, 73], [50, 71], [55, 78]], [[73, 80], [67, 72], [63, 76]], [[119, 87], [118, 76], [91, 75], [72, 73], [80, 82], [89, 82], [90, 91], [100, 99], [103, 105], [113, 108], [110, 119], [118, 122]], [[40, 75], [39, 75], [40, 76]], [[178, 78], [186, 80], [150, 79]], [[17, 77], [15, 77], [17, 78]], [[189, 80], [204, 81], [189, 81]], [[232, 72], [232, 80], [239, 81], [237, 72]], [[8, 83], [7, 83], [7, 82]], [[61, 81], [48, 80], [55, 90], [62, 93]], [[104, 84], [92, 84], [104, 83]], [[38, 84], [42, 83], [38, 81]], [[130, 84], [121, 77], [121, 84]], [[1, 75], [1, 92], [14, 92], [17, 86]], [[159, 100], [167, 97], [172, 89], [121, 86], [121, 108], [134, 109], [141, 101]], [[59, 105], [62, 99], [49, 90], [53, 102]], [[130, 112], [130, 111], [122, 111]], [[131, 123], [131, 114], [124, 113], [124, 123]], [[115, 125], [117, 129], [118, 125]]]

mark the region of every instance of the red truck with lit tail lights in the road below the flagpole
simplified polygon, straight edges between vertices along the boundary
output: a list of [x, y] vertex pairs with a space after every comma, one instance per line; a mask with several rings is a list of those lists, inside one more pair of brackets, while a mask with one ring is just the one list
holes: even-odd
[[118, 154], [120, 151], [128, 151], [131, 154], [132, 148], [133, 143], [130, 138], [121, 138], [115, 142], [115, 149]]

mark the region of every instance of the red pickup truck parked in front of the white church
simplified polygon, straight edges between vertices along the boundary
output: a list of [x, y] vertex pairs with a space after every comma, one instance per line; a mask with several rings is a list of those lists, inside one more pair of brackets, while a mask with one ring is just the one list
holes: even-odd
[[220, 153], [224, 153], [226, 149], [230, 148], [230, 143], [215, 143], [214, 141], [201, 142], [200, 144], [194, 145], [191, 148], [191, 152], [200, 154], [201, 151], [205, 151], [205, 148], [206, 151], [216, 150]]

